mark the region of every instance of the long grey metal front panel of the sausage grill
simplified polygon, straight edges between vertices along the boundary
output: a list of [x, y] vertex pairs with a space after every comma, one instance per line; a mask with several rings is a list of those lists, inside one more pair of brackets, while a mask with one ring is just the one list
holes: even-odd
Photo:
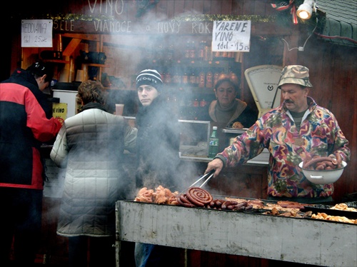
[[349, 223], [134, 201], [117, 201], [116, 217], [120, 241], [317, 266], [357, 264], [357, 226]]

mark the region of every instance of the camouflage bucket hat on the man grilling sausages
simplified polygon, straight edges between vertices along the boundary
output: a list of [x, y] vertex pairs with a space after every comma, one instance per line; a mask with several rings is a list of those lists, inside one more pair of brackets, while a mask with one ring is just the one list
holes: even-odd
[[281, 71], [278, 88], [283, 84], [300, 84], [305, 87], [313, 87], [308, 80], [308, 68], [306, 66], [291, 65], [285, 66]]

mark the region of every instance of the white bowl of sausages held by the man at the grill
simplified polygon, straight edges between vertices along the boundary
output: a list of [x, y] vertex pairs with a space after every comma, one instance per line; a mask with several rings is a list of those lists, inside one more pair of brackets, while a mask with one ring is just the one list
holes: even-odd
[[333, 170], [308, 170], [307, 168], [303, 168], [303, 161], [298, 166], [303, 170], [303, 174], [311, 183], [326, 184], [336, 182], [341, 177], [343, 168], [347, 166], [347, 163], [342, 161], [342, 168], [335, 168]]

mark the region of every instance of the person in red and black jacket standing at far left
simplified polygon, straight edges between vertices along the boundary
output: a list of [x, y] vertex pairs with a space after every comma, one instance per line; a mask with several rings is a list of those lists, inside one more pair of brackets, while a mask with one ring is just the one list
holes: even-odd
[[0, 83], [1, 266], [9, 266], [10, 259], [15, 266], [32, 266], [41, 241], [44, 166], [39, 149], [61, 129], [42, 92], [52, 76], [51, 66], [36, 62]]

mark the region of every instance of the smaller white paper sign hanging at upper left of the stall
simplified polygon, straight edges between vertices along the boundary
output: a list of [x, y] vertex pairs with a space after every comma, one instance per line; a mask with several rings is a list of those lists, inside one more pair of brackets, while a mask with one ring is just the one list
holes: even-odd
[[52, 47], [51, 19], [23, 19], [21, 21], [21, 47]]

